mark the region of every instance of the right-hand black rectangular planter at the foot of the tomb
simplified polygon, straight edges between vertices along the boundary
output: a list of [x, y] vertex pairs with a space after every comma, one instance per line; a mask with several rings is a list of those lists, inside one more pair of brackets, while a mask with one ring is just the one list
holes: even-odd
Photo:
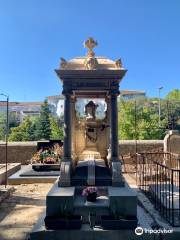
[[135, 229], [137, 217], [120, 213], [115, 205], [110, 215], [101, 216], [101, 226], [108, 230]]

